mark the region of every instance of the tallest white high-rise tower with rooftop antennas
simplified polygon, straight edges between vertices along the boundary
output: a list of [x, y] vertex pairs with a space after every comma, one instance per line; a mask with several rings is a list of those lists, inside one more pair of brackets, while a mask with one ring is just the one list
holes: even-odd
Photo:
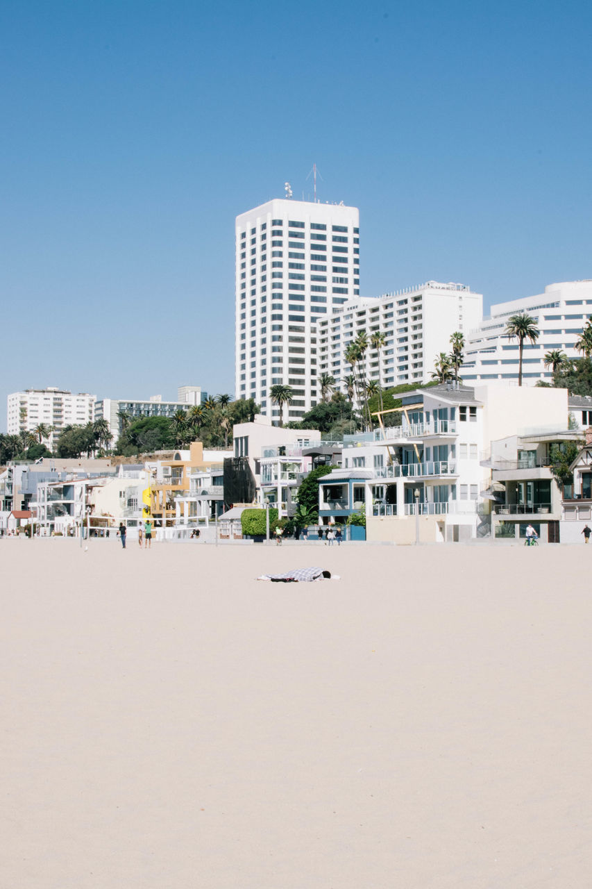
[[292, 388], [286, 420], [316, 404], [317, 324], [359, 296], [359, 240], [342, 204], [276, 199], [236, 217], [236, 398], [273, 420], [276, 383]]

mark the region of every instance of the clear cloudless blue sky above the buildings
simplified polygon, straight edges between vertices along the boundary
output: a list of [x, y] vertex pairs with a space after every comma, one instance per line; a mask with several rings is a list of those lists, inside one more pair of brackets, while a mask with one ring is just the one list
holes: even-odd
[[5, 396], [234, 391], [234, 219], [360, 208], [361, 292], [592, 277], [583, 2], [4, 2]]

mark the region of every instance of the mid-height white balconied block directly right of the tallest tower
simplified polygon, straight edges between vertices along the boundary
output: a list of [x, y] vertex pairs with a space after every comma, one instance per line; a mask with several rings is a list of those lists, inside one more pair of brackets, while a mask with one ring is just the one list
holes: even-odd
[[404, 291], [373, 299], [348, 300], [332, 316], [317, 325], [319, 373], [330, 373], [343, 382], [351, 374], [346, 349], [360, 332], [384, 333], [380, 350], [369, 346], [362, 371], [365, 379], [380, 386], [431, 380], [436, 357], [449, 353], [451, 334], [475, 327], [483, 316], [483, 296], [465, 284], [428, 281]]

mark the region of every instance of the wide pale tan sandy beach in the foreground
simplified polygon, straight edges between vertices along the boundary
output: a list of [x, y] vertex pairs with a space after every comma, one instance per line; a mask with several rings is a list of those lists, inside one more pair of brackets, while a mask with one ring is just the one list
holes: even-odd
[[0, 542], [0, 886], [587, 887], [590, 559]]

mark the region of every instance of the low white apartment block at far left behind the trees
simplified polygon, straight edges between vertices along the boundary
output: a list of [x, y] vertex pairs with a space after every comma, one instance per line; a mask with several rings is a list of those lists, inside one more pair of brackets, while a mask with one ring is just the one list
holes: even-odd
[[12, 392], [7, 398], [8, 434], [33, 432], [44, 423], [52, 427], [52, 432], [44, 439], [52, 449], [62, 428], [70, 424], [84, 426], [94, 420], [96, 397], [87, 392], [74, 394], [68, 389], [54, 387]]

